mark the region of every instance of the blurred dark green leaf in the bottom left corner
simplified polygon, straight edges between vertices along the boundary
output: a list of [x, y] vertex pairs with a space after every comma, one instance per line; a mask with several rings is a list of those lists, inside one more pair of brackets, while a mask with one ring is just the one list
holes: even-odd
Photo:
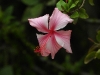
[[0, 75], [14, 75], [12, 66], [5, 66], [0, 70]]

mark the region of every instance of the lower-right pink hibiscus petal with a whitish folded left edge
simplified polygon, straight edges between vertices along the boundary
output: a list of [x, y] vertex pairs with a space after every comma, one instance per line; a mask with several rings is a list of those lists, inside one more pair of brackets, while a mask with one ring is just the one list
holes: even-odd
[[71, 47], [70, 47], [70, 36], [71, 36], [71, 30], [68, 31], [57, 31], [55, 33], [56, 40], [60, 46], [66, 49], [68, 53], [72, 53]]

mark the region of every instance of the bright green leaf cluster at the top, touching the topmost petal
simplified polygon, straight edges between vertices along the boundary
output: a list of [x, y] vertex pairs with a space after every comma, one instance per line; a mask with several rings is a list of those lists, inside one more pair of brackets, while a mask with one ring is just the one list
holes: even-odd
[[80, 0], [75, 0], [75, 1], [69, 0], [67, 3], [64, 2], [63, 0], [60, 0], [57, 3], [57, 7], [59, 8], [59, 10], [65, 13], [69, 13], [71, 15], [70, 17], [74, 19], [74, 23], [76, 23], [78, 18], [82, 18], [82, 19], [88, 18], [86, 10], [82, 8], [83, 4], [84, 4], [84, 0], [82, 5], [80, 5]]

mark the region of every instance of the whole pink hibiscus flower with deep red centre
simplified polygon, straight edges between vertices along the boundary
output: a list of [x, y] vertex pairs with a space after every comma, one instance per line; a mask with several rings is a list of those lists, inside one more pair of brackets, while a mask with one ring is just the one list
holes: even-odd
[[65, 48], [68, 53], [72, 53], [70, 47], [71, 30], [58, 31], [73, 21], [67, 14], [63, 14], [55, 8], [50, 18], [46, 14], [28, 20], [31, 26], [40, 32], [46, 33], [45, 35], [37, 34], [39, 47], [35, 49], [35, 52], [39, 52], [42, 56], [48, 56], [51, 53], [52, 59], [61, 47]]

